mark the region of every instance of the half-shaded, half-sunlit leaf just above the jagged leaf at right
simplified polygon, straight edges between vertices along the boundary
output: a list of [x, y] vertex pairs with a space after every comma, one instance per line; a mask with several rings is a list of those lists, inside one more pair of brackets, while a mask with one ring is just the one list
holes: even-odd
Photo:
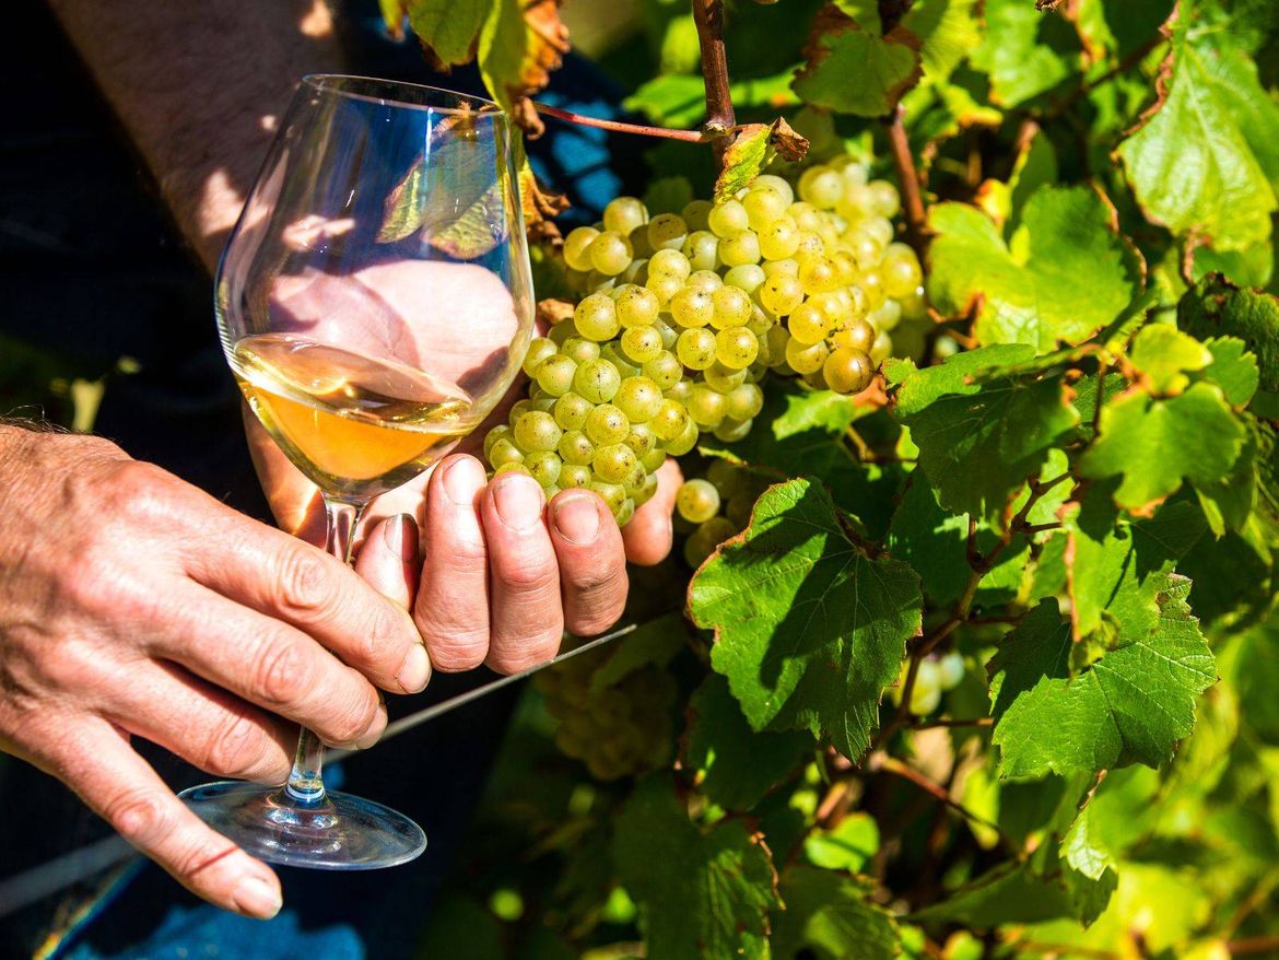
[[1154, 630], [1163, 577], [1204, 535], [1204, 517], [1187, 502], [1169, 503], [1147, 520], [1120, 521], [1111, 488], [1094, 484], [1065, 511], [1077, 639], [1106, 622], [1128, 637]]

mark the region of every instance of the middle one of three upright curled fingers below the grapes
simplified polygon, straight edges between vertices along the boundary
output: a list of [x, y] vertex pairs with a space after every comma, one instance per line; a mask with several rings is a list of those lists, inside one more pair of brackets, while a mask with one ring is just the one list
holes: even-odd
[[517, 472], [495, 477], [481, 503], [492, 596], [485, 662], [501, 673], [517, 673], [550, 659], [564, 632], [559, 568], [546, 531], [545, 503], [537, 481]]

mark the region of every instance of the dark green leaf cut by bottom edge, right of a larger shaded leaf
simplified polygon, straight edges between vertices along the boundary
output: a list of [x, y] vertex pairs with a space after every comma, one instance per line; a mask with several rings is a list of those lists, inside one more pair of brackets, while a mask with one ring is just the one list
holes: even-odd
[[774, 960], [891, 960], [900, 955], [893, 915], [871, 902], [871, 884], [853, 877], [792, 867], [781, 878], [787, 908], [774, 914]]

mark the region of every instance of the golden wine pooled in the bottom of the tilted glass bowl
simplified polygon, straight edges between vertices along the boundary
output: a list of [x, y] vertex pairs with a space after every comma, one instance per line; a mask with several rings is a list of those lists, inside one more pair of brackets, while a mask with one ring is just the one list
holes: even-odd
[[399, 486], [475, 426], [460, 388], [304, 337], [246, 337], [231, 369], [280, 449], [331, 494]]

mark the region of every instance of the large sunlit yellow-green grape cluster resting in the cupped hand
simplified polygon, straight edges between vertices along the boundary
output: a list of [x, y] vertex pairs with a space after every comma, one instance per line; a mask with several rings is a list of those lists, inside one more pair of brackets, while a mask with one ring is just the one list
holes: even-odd
[[749, 433], [770, 371], [866, 389], [893, 349], [889, 332], [923, 316], [918, 259], [893, 242], [899, 206], [890, 183], [868, 182], [847, 156], [794, 187], [761, 175], [680, 214], [650, 216], [618, 197], [564, 239], [581, 300], [530, 346], [528, 397], [489, 433], [489, 463], [532, 475], [547, 497], [595, 490], [625, 524], [668, 454], [702, 433], [725, 443]]

